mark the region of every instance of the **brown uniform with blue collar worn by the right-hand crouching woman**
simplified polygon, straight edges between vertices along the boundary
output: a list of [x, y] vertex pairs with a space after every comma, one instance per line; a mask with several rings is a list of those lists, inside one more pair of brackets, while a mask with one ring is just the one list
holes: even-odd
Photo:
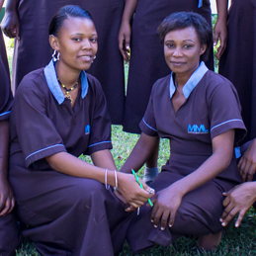
[[[238, 96], [232, 84], [207, 69], [204, 62], [183, 88], [185, 103], [175, 113], [172, 75], [159, 79], [153, 86], [144, 118], [142, 132], [169, 138], [171, 154], [151, 187], [156, 193], [197, 170], [213, 154], [213, 137], [235, 129], [236, 140], [245, 134]], [[224, 191], [241, 182], [236, 159], [212, 181], [186, 194], [174, 224], [164, 231], [150, 221], [151, 208], [140, 209], [128, 227], [128, 243], [138, 252], [153, 243], [169, 246], [185, 234], [204, 235], [222, 230], [219, 217], [223, 212]]]

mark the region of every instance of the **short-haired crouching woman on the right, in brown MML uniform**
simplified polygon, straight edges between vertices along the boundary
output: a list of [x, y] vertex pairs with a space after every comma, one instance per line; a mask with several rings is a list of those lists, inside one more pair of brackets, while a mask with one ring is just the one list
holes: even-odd
[[154, 243], [169, 246], [185, 234], [200, 236], [213, 250], [221, 237], [222, 193], [241, 182], [234, 139], [245, 134], [232, 84], [203, 60], [212, 30], [195, 13], [176, 13], [159, 27], [165, 60], [173, 71], [153, 86], [142, 133], [122, 171], [138, 170], [156, 146], [169, 138], [171, 154], [152, 183], [154, 206], [140, 208], [128, 227], [128, 243], [138, 252]]

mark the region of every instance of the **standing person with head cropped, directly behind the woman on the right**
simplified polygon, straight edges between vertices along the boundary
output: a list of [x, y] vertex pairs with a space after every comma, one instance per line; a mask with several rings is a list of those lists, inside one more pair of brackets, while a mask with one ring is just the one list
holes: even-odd
[[[220, 39], [217, 56], [222, 54], [226, 42], [226, 2], [216, 0], [217, 22], [214, 28], [214, 43]], [[157, 35], [157, 27], [163, 19], [175, 12], [196, 12], [206, 18], [212, 28], [210, 0], [127, 0], [119, 34], [119, 47], [125, 60], [128, 60], [130, 47], [128, 93], [124, 117], [124, 130], [140, 133], [138, 126], [148, 104], [154, 82], [169, 74], [164, 60], [163, 48]], [[135, 13], [135, 14], [134, 14]], [[133, 15], [134, 14], [134, 15]], [[133, 19], [132, 19], [133, 18]], [[130, 26], [132, 20], [132, 26]], [[213, 70], [213, 47], [206, 62]], [[146, 162], [144, 180], [150, 181], [158, 174], [158, 147]], [[150, 169], [149, 169], [150, 168]]]

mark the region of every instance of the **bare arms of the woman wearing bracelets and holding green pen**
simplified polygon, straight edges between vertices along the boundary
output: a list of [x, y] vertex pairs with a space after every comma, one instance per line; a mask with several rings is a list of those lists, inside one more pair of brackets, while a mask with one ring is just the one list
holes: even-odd
[[[56, 153], [45, 159], [52, 169], [58, 172], [80, 178], [94, 179], [103, 184], [105, 184], [105, 173], [106, 168], [108, 168], [107, 184], [116, 186], [114, 173], [116, 166], [110, 150], [95, 152], [91, 157], [98, 166], [91, 165], [66, 152]], [[153, 196], [153, 194], [148, 193], [150, 188], [145, 184], [143, 184], [145, 190], [140, 189], [133, 175], [120, 172], [117, 172], [117, 175], [119, 191], [132, 207], [137, 208], [144, 205], [147, 199]]]

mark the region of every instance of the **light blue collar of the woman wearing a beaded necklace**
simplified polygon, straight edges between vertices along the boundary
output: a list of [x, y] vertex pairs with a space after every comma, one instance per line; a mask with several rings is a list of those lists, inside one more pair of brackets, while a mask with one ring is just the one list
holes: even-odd
[[[54, 67], [54, 62], [51, 59], [50, 62], [44, 67], [44, 76], [48, 85], [49, 90], [54, 95], [58, 104], [62, 104], [65, 100], [65, 97], [60, 89], [59, 83], [57, 81], [56, 71]], [[81, 71], [80, 74], [81, 87], [82, 87], [82, 99], [87, 95], [88, 92], [88, 79], [85, 71]]]

